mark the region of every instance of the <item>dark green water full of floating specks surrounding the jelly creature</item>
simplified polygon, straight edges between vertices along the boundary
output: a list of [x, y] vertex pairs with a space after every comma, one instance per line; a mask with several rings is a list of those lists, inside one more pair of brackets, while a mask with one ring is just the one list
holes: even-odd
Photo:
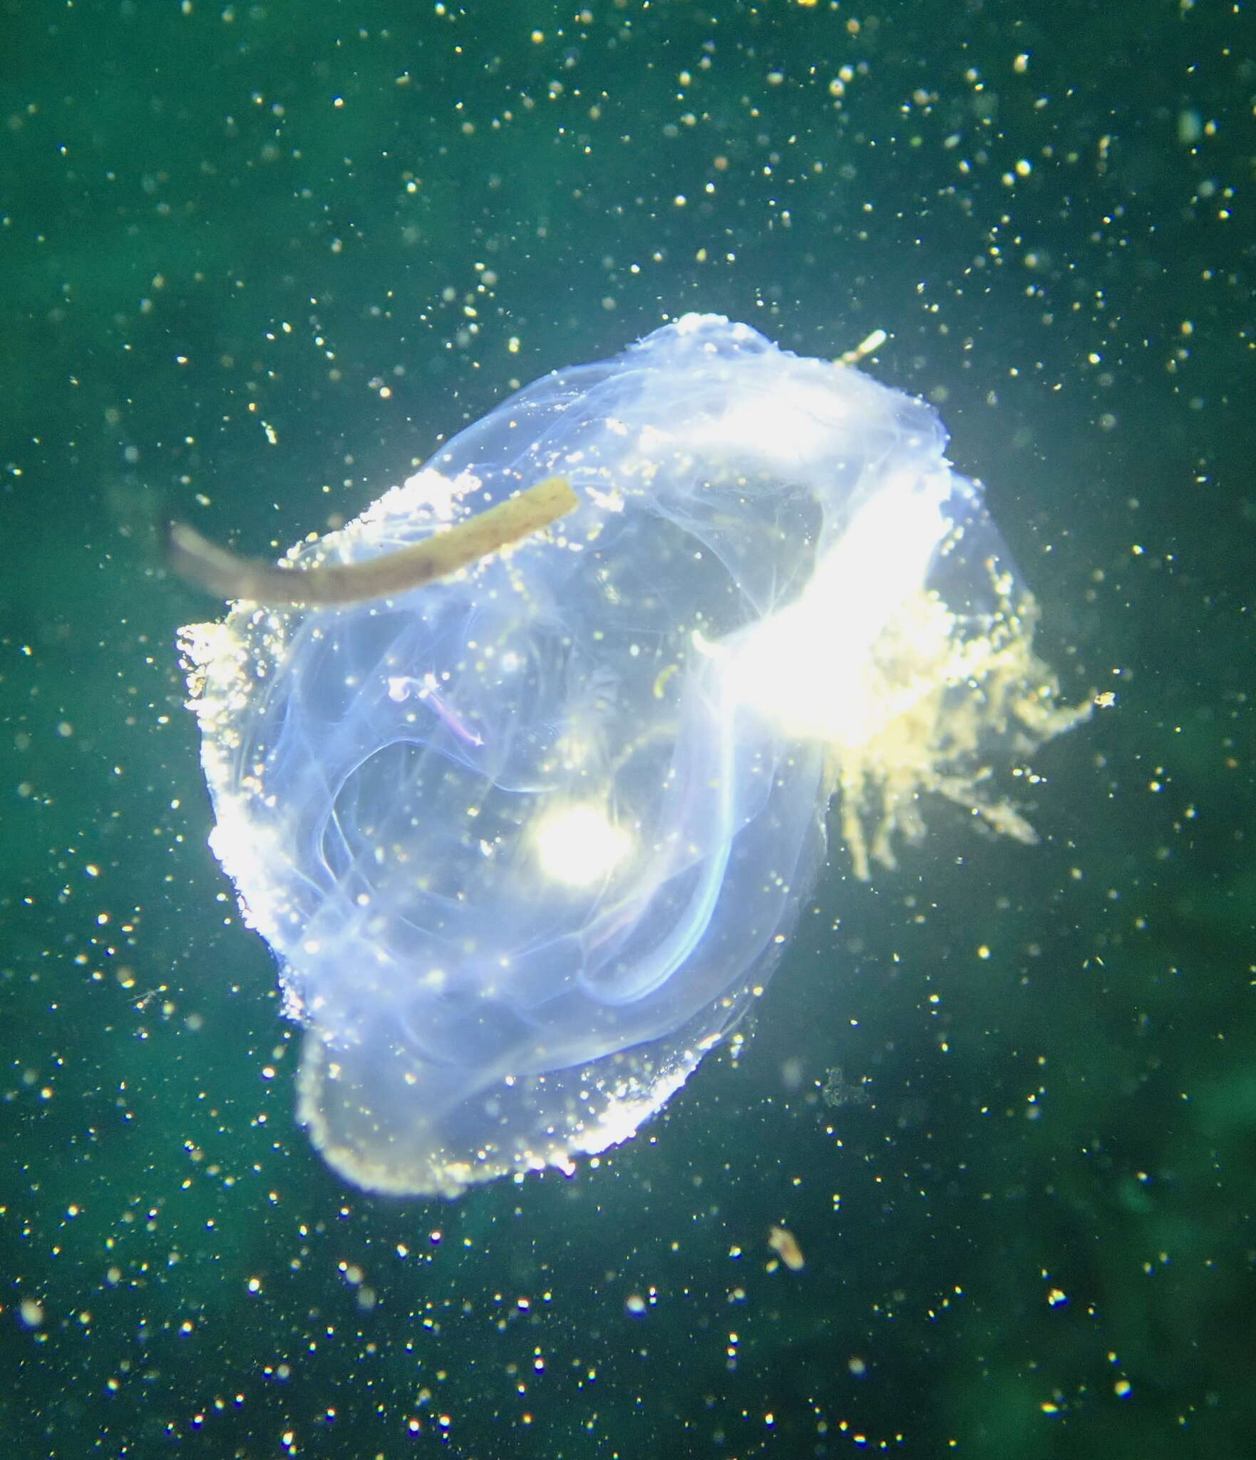
[[[0, 0], [6, 1460], [1252, 1453], [1253, 98], [1202, 3]], [[629, 1146], [365, 1197], [152, 523], [286, 545], [692, 308], [885, 328], [1117, 705], [1041, 845], [838, 850]]]

